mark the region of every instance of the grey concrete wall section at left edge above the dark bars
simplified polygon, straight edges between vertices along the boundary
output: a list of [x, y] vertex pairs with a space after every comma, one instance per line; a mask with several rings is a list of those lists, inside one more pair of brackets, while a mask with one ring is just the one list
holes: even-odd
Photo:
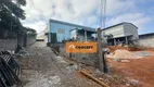
[[0, 39], [0, 51], [11, 50], [15, 51], [17, 47], [17, 39]]

